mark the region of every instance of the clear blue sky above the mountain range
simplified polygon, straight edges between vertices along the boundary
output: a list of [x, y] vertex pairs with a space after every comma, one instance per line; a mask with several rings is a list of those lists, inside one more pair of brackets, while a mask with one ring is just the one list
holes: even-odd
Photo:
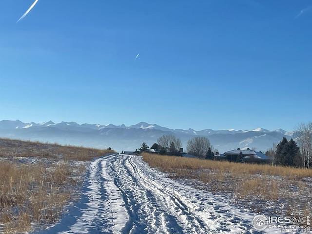
[[286, 130], [312, 120], [309, 0], [39, 0], [16, 23], [32, 3], [1, 2], [0, 119]]

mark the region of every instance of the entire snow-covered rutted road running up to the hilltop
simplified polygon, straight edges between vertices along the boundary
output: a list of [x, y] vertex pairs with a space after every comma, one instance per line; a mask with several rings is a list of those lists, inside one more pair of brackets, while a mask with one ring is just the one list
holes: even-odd
[[40, 234], [258, 233], [252, 214], [172, 180], [140, 156], [96, 159], [81, 201]]

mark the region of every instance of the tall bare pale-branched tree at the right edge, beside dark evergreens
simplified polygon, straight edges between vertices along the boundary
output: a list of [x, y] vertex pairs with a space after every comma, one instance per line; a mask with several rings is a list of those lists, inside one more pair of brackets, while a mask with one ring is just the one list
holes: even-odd
[[312, 166], [312, 122], [298, 124], [296, 132], [302, 163], [304, 167], [310, 168]]

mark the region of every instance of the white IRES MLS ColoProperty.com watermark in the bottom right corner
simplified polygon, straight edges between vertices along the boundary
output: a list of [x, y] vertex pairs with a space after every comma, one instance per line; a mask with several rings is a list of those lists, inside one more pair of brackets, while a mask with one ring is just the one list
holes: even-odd
[[282, 233], [305, 233], [311, 232], [311, 215], [307, 216], [264, 216], [257, 215], [253, 221], [257, 231], [279, 230]]

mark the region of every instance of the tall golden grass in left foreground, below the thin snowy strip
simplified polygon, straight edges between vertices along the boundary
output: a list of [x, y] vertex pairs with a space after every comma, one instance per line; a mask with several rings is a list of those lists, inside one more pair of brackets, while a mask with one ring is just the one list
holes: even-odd
[[7, 233], [29, 231], [31, 222], [53, 223], [70, 199], [72, 170], [66, 163], [0, 163], [0, 223]]

